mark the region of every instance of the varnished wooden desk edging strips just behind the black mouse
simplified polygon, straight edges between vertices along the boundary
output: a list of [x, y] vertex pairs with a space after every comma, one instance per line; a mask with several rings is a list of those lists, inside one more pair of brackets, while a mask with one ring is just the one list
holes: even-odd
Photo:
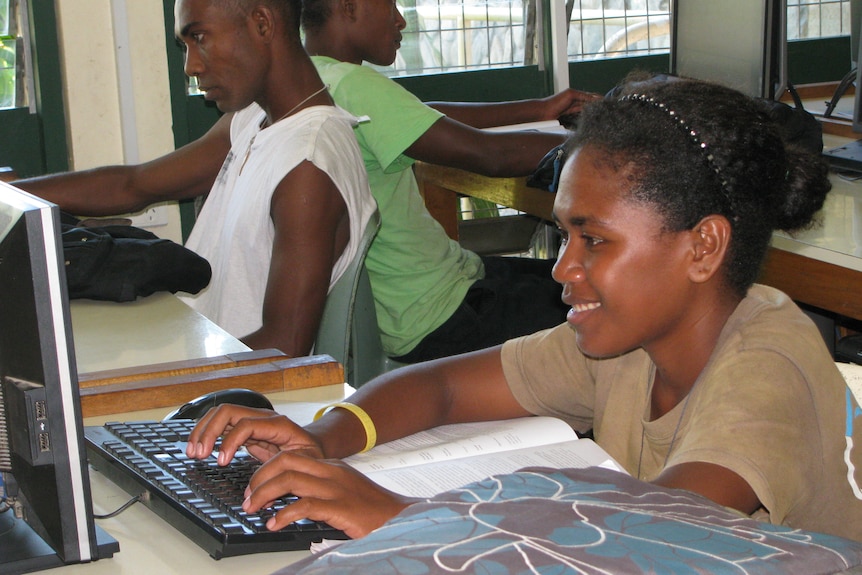
[[280, 352], [248, 352], [149, 367], [149, 372], [132, 368], [127, 377], [123, 370], [82, 374], [82, 415], [171, 407], [234, 387], [267, 393], [344, 383], [343, 367], [328, 355], [288, 358]]

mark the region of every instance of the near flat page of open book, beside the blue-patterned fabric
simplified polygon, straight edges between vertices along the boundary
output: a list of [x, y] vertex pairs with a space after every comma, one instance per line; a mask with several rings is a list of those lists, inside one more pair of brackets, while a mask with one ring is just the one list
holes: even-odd
[[434, 495], [491, 475], [512, 473], [523, 467], [582, 468], [602, 466], [623, 471], [590, 439], [577, 439], [540, 447], [487, 453], [451, 461], [437, 461], [398, 469], [367, 472], [369, 479], [396, 493], [411, 497]]

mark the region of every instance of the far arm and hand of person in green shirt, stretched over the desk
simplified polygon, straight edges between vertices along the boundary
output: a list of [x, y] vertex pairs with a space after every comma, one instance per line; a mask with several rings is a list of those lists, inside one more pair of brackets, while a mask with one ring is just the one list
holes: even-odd
[[527, 122], [556, 120], [580, 113], [584, 104], [601, 96], [567, 88], [547, 98], [499, 103], [427, 102], [449, 118], [474, 128], [510, 126]]

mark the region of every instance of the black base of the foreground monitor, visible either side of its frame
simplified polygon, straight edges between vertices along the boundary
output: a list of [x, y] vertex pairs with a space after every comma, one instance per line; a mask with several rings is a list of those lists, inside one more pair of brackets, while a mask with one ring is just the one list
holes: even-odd
[[[96, 526], [97, 559], [107, 559], [120, 550], [117, 541]], [[0, 575], [31, 573], [62, 567], [66, 563], [26, 521], [12, 511], [0, 514]]]

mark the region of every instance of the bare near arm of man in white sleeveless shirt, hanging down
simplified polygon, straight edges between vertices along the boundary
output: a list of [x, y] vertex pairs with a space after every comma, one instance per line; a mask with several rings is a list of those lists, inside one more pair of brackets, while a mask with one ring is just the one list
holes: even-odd
[[347, 206], [326, 173], [303, 162], [279, 183], [270, 216], [275, 227], [263, 302], [263, 325], [243, 338], [255, 349], [308, 355], [329, 291], [332, 267], [350, 238]]

